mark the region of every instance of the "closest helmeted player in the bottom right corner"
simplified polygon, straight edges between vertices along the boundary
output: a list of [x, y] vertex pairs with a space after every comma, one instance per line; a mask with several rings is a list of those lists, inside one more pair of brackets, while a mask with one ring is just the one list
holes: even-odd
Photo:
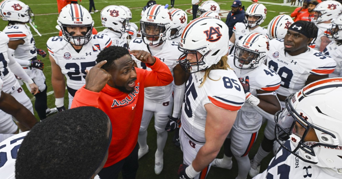
[[253, 179], [342, 178], [340, 105], [342, 78], [308, 84], [285, 100], [276, 121], [276, 139], [289, 137], [267, 170]]

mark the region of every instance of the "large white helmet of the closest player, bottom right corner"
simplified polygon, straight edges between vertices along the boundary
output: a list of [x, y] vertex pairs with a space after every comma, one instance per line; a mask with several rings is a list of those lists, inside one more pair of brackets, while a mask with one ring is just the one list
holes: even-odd
[[276, 140], [285, 133], [286, 150], [301, 160], [342, 174], [342, 78], [325, 78], [306, 85], [285, 100], [275, 114]]

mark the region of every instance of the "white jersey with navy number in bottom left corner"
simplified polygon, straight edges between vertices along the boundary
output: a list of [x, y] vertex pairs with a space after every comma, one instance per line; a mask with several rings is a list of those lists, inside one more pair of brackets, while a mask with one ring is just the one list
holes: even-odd
[[1, 179], [15, 179], [15, 159], [24, 137], [29, 131], [11, 136], [0, 143], [0, 174]]

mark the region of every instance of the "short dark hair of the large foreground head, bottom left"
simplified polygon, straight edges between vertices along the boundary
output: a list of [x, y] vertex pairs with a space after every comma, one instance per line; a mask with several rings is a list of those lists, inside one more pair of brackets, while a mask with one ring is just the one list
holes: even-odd
[[24, 138], [15, 162], [16, 179], [89, 179], [108, 147], [108, 116], [90, 106], [57, 113]]

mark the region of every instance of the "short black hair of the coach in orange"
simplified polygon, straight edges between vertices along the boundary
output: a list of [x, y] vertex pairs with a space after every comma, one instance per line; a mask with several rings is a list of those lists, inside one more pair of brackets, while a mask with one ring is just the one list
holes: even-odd
[[129, 51], [126, 47], [109, 46], [97, 55], [96, 62], [99, 63], [107, 60], [107, 63], [102, 66], [102, 69], [109, 71], [110, 67], [115, 66], [114, 60], [117, 60], [127, 54], [129, 54]]

